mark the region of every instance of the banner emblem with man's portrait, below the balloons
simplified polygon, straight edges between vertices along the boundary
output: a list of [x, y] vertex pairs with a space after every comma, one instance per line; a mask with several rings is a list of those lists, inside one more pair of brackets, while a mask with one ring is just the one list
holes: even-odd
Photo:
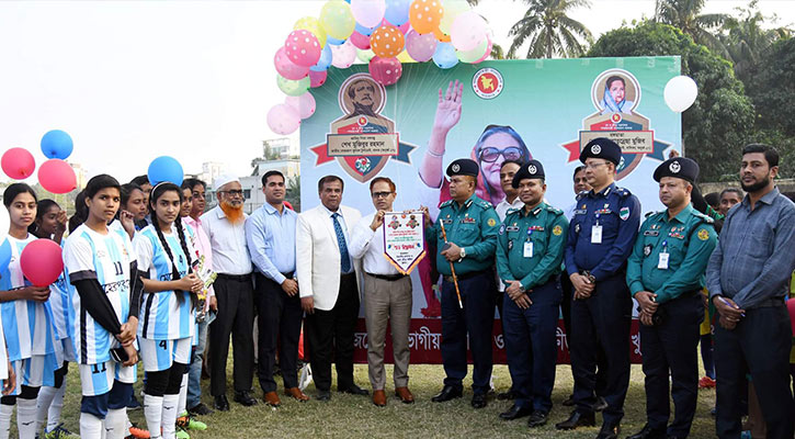
[[414, 145], [400, 143], [395, 121], [381, 112], [386, 105], [384, 86], [368, 74], [351, 75], [338, 93], [342, 116], [331, 122], [326, 143], [313, 146], [315, 166], [337, 159], [340, 167], [359, 182], [366, 182], [384, 169], [389, 158], [411, 165]]

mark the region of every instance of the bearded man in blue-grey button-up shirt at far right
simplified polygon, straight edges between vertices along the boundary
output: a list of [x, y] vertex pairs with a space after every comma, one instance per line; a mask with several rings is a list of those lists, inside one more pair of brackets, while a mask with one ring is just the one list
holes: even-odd
[[790, 389], [792, 328], [784, 304], [795, 269], [795, 204], [773, 179], [779, 153], [761, 144], [742, 149], [740, 182], [746, 196], [728, 211], [706, 271], [715, 326], [716, 429], [738, 438], [746, 373], [768, 425], [768, 438], [793, 437]]

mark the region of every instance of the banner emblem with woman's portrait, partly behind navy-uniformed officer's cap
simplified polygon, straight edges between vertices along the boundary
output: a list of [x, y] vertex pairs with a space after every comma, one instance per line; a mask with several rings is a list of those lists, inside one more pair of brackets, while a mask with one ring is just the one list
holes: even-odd
[[591, 86], [594, 114], [582, 120], [579, 139], [561, 145], [569, 151], [568, 162], [577, 161], [580, 151], [597, 137], [607, 137], [621, 146], [621, 162], [616, 180], [629, 175], [649, 156], [665, 160], [662, 153], [671, 144], [655, 139], [651, 121], [636, 112], [640, 103], [640, 85], [635, 76], [624, 69], [601, 72]]

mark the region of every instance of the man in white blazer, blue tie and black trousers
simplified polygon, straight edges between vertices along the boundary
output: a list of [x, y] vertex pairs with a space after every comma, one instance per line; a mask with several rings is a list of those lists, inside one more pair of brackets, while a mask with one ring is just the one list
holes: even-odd
[[354, 395], [367, 391], [353, 382], [353, 331], [359, 317], [359, 286], [348, 246], [362, 214], [340, 205], [344, 183], [337, 176], [318, 181], [320, 205], [298, 215], [296, 271], [313, 380], [319, 401], [331, 398], [331, 358], [337, 390]]

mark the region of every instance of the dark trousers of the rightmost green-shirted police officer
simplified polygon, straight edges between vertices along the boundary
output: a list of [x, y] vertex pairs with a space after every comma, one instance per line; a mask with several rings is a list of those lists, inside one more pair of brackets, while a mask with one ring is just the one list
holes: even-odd
[[[655, 430], [667, 429], [668, 436], [685, 438], [699, 399], [699, 328], [704, 318], [701, 291], [660, 304], [658, 313], [662, 318], [659, 325], [640, 325], [646, 417]], [[671, 397], [675, 413], [669, 427]]]

